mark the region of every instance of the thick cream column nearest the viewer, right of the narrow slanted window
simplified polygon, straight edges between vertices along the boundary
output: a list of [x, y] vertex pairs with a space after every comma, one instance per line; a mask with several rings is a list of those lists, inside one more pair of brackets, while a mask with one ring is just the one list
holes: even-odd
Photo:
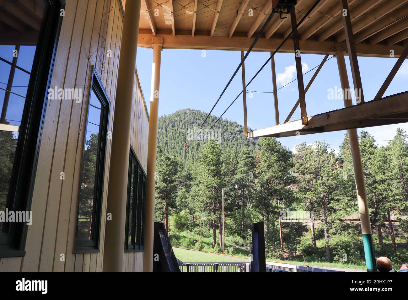
[[[140, 0], [128, 1], [123, 20], [118, 69], [118, 85], [113, 118], [111, 162], [103, 253], [103, 271], [121, 272], [124, 256], [127, 180], [129, 171], [130, 125], [136, 49], [139, 32]], [[106, 218], [106, 216], [102, 216]]]

